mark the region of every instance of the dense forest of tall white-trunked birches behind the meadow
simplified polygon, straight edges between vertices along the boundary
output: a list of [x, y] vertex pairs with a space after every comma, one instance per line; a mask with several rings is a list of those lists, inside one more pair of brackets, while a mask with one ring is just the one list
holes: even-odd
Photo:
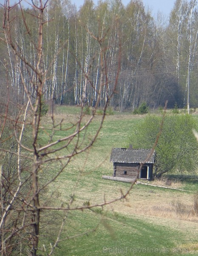
[[[36, 3], [36, 2], [35, 2]], [[85, 0], [79, 10], [69, 0], [50, 0], [44, 10], [43, 68], [47, 79], [43, 100], [53, 99], [56, 104], [79, 105], [82, 95], [86, 104], [94, 106], [100, 93], [99, 106], [112, 93], [109, 106], [124, 111], [146, 102], [150, 108], [175, 103], [187, 105], [190, 87], [190, 107], [198, 107], [198, 12], [196, 1], [176, 0], [169, 17], [152, 17], [141, 0], [131, 0], [123, 6], [121, 0]], [[11, 45], [0, 44], [1, 96], [11, 84], [11, 95], [18, 102], [34, 97], [34, 81], [25, 63], [34, 66], [38, 23], [34, 5], [14, 6], [12, 38], [20, 52], [17, 64]], [[1, 17], [5, 15], [0, 8]], [[1, 25], [2, 26], [2, 25]], [[3, 28], [2, 28], [3, 31]], [[28, 36], [31, 34], [35, 41]], [[3, 34], [1, 35], [3, 37]], [[101, 54], [103, 51], [103, 54]], [[100, 63], [105, 59], [107, 71], [101, 76]], [[25, 93], [20, 72], [27, 84]], [[86, 79], [85, 79], [86, 78]], [[109, 87], [97, 88], [108, 81]], [[112, 88], [111, 88], [112, 84]]]

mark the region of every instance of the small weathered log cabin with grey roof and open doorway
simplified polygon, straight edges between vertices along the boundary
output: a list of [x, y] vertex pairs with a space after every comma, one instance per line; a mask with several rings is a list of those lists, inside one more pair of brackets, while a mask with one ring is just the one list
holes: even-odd
[[[113, 148], [110, 162], [113, 162], [114, 177], [136, 178], [140, 163], [147, 159], [151, 149]], [[141, 168], [139, 178], [152, 180], [153, 165], [156, 161], [156, 152], [146, 161]]]

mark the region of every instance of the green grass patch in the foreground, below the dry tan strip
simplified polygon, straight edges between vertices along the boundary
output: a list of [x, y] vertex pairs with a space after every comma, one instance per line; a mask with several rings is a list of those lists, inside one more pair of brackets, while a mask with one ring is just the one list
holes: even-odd
[[164, 255], [167, 252], [168, 255], [177, 255], [172, 253], [173, 248], [185, 242], [182, 232], [135, 216], [111, 213], [100, 216], [93, 212], [83, 212], [73, 216], [73, 221], [76, 222], [76, 219], [81, 225], [75, 226], [74, 235], [96, 227], [96, 223], [100, 224], [94, 233], [60, 243], [57, 255], [143, 255], [145, 250], [146, 255], [150, 256], [153, 252], [159, 255], [159, 250]]

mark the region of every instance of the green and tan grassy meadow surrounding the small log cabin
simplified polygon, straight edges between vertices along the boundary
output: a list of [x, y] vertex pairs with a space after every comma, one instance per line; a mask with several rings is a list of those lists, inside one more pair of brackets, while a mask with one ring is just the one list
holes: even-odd
[[[64, 119], [63, 127], [70, 127], [79, 111], [78, 107], [59, 106], [56, 122]], [[99, 204], [104, 198], [109, 201], [119, 197], [121, 190], [127, 191], [129, 183], [104, 180], [102, 175], [112, 175], [111, 148], [128, 147], [131, 131], [142, 118], [144, 116], [131, 113], [114, 112], [114, 115], [107, 115], [93, 147], [71, 160], [65, 171], [46, 190], [43, 201], [50, 198], [54, 205], [66, 206], [74, 192], [73, 206]], [[100, 119], [98, 115], [93, 120], [86, 131], [87, 138], [92, 137]], [[40, 134], [41, 145], [47, 142], [50, 122], [49, 116], [42, 117], [45, 132]], [[65, 136], [67, 132], [58, 131], [54, 138]], [[48, 179], [60, 167], [60, 163], [46, 166], [40, 175], [43, 175], [44, 180]], [[164, 185], [165, 181], [162, 179], [150, 183]], [[127, 200], [104, 208], [68, 212], [62, 241], [54, 255], [198, 255], [198, 215], [193, 210], [195, 192], [198, 192], [198, 175], [173, 175], [172, 187], [191, 192], [137, 184]], [[51, 235], [58, 233], [64, 216], [64, 212], [54, 211], [45, 218], [44, 225], [52, 225], [40, 244], [43, 253], [48, 251], [50, 243], [53, 244]]]

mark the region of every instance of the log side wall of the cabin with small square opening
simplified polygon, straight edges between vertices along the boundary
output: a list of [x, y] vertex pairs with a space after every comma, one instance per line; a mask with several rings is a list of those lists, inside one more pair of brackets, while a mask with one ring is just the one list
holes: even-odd
[[[114, 163], [113, 169], [114, 169], [113, 176], [136, 178], [139, 165], [133, 164], [133, 163]], [[124, 172], [126, 172], [126, 174], [124, 174]]]

